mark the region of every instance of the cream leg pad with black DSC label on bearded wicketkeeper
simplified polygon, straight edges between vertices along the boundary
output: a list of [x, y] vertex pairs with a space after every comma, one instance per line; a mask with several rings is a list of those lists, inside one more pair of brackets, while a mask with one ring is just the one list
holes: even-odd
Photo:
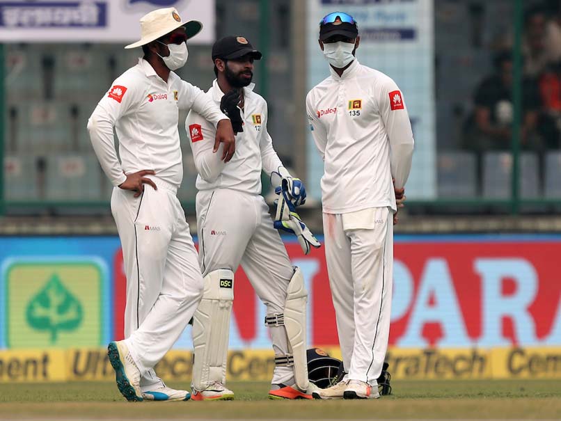
[[212, 271], [204, 278], [203, 299], [193, 316], [193, 387], [205, 390], [212, 381], [226, 383], [234, 273]]

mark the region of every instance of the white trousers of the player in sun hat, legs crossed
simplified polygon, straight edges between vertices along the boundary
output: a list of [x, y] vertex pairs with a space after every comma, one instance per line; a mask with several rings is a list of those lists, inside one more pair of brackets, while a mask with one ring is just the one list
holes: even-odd
[[144, 192], [115, 187], [116, 221], [127, 275], [125, 342], [143, 378], [141, 388], [160, 383], [153, 367], [173, 347], [203, 295], [203, 276], [177, 189], [157, 177]]

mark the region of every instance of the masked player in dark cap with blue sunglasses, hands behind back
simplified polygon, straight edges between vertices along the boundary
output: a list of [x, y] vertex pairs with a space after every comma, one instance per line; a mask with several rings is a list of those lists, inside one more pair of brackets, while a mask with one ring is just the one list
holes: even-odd
[[413, 154], [403, 95], [386, 74], [358, 63], [359, 42], [350, 15], [322, 19], [319, 45], [331, 75], [306, 97], [324, 160], [326, 262], [346, 372], [340, 383], [313, 393], [321, 399], [379, 397], [390, 329], [396, 193], [402, 200]]

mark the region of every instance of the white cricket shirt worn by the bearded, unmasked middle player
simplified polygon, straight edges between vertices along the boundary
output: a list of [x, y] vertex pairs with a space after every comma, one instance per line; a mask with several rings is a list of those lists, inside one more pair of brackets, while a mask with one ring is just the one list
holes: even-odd
[[[198, 171], [197, 189], [234, 189], [251, 194], [261, 193], [261, 171], [267, 175], [283, 166], [267, 132], [267, 102], [253, 92], [255, 84], [244, 88], [244, 131], [236, 135], [236, 153], [225, 163], [222, 148], [212, 152], [216, 129], [193, 109], [185, 121], [191, 141], [193, 159]], [[216, 79], [207, 95], [220, 104], [224, 95]]]

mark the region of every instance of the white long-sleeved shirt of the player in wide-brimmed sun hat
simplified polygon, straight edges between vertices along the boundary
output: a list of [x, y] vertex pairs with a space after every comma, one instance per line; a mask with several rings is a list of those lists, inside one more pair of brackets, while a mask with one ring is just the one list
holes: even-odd
[[[174, 72], [166, 83], [143, 58], [118, 77], [88, 120], [93, 149], [113, 185], [125, 182], [123, 171], [154, 170], [156, 177], [179, 187], [183, 179], [179, 109], [191, 108], [214, 126], [228, 118], [203, 90]], [[121, 162], [113, 143], [113, 127]]]

